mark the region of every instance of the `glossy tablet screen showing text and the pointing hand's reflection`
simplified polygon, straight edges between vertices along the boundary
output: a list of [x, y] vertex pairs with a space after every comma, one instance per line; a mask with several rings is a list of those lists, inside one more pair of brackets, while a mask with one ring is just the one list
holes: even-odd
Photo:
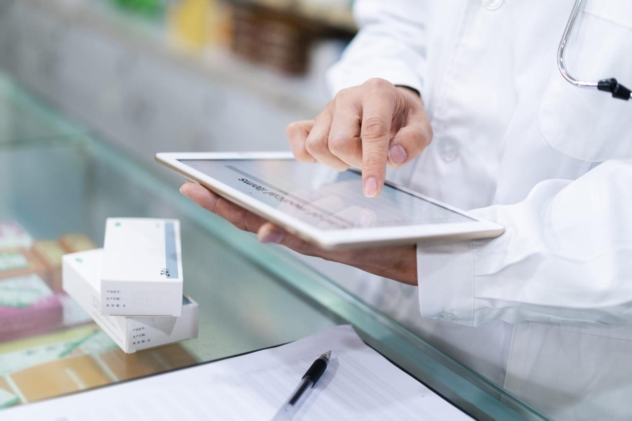
[[395, 227], [474, 220], [385, 185], [362, 194], [362, 176], [295, 160], [179, 160], [277, 210], [322, 229]]

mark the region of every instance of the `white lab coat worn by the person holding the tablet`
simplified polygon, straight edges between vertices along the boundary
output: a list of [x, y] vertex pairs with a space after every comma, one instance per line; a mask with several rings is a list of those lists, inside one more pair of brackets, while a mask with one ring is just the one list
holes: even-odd
[[[356, 0], [360, 33], [328, 77], [422, 92], [434, 140], [389, 177], [506, 228], [420, 243], [418, 289], [363, 296], [552, 418], [629, 420], [632, 101], [562, 78], [572, 7]], [[632, 1], [588, 0], [566, 60], [632, 85]]]

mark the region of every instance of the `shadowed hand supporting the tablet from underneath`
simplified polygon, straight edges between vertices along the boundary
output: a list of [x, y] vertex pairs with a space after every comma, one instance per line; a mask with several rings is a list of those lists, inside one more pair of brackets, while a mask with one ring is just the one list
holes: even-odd
[[257, 234], [261, 242], [282, 244], [306, 256], [317, 256], [325, 260], [349, 264], [375, 275], [417, 285], [415, 246], [327, 251], [301, 240], [296, 235], [289, 234], [289, 232], [267, 222], [264, 218], [217, 196], [204, 186], [187, 182], [180, 187], [180, 191], [202, 208], [228, 220], [240, 230]]

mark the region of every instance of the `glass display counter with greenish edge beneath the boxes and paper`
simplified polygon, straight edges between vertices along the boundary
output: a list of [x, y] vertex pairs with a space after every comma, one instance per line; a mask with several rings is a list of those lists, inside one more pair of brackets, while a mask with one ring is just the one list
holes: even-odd
[[[30, 330], [0, 323], [0, 388], [15, 396], [4, 406], [252, 352], [349, 323], [368, 345], [475, 418], [544, 419], [280, 247], [259, 244], [198, 208], [167, 173], [69, 124], [0, 76], [0, 228], [19, 224], [34, 240], [20, 250], [37, 254], [52, 243], [64, 252], [100, 246], [108, 216], [178, 218], [185, 293], [199, 303], [197, 339], [125, 354], [56, 292], [63, 308], [57, 319], [35, 315], [40, 323]], [[0, 249], [0, 257], [15, 247]], [[59, 290], [59, 264], [59, 256], [49, 256], [38, 272], [53, 290]], [[0, 285], [8, 274], [0, 268]]]

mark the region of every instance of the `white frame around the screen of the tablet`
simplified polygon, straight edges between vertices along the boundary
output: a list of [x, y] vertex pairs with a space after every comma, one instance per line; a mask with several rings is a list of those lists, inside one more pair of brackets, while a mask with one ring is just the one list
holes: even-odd
[[228, 186], [203, 172], [193, 169], [179, 160], [293, 160], [290, 152], [166, 152], [157, 153], [157, 162], [183, 175], [190, 181], [202, 184], [222, 198], [236, 203], [249, 211], [279, 225], [303, 240], [313, 242], [323, 249], [338, 250], [358, 247], [395, 246], [415, 244], [420, 240], [448, 238], [454, 240], [492, 238], [501, 235], [504, 228], [497, 223], [470, 215], [440, 201], [428, 198], [406, 187], [387, 181], [386, 184], [412, 194], [430, 203], [454, 211], [472, 219], [472, 222], [396, 225], [377, 228], [346, 228], [322, 230], [301, 221], [293, 215], [279, 211], [258, 199]]

